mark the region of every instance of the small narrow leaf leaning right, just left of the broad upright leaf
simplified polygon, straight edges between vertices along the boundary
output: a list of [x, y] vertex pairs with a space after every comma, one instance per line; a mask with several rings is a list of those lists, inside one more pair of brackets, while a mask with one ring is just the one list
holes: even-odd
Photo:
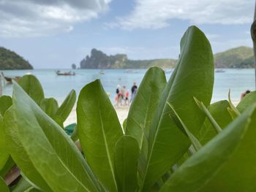
[[60, 116], [63, 119], [63, 121], [65, 121], [69, 116], [70, 112], [72, 111], [75, 101], [76, 93], [74, 90], [72, 90], [61, 104], [61, 107], [59, 107], [59, 109], [57, 110], [56, 116]]

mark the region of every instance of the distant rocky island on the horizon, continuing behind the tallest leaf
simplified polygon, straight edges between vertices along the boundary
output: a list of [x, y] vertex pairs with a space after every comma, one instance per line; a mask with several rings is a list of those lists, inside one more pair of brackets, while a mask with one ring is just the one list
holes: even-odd
[[[101, 50], [92, 49], [80, 61], [80, 69], [147, 69], [159, 66], [163, 69], [174, 68], [177, 59], [162, 58], [151, 60], [130, 60], [126, 54], [107, 55]], [[215, 68], [253, 68], [254, 55], [251, 47], [236, 47], [214, 55]]]

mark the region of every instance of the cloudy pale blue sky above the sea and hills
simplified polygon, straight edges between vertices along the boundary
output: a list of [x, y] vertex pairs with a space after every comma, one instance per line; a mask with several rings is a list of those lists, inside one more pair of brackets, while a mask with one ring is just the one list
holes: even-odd
[[252, 47], [254, 0], [0, 0], [0, 47], [34, 69], [67, 69], [97, 48], [130, 59], [178, 58], [189, 26], [214, 53]]

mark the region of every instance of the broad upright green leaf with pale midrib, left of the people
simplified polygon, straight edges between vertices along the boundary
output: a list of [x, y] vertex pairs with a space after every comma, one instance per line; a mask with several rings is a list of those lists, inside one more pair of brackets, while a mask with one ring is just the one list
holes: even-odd
[[78, 98], [78, 136], [91, 169], [109, 191], [117, 191], [114, 151], [122, 136], [116, 111], [99, 80], [86, 85]]

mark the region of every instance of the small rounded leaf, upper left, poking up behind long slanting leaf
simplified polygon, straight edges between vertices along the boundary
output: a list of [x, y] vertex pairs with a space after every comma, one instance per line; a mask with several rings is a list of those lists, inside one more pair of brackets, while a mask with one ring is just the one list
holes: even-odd
[[39, 80], [37, 80], [37, 77], [35, 77], [34, 75], [24, 75], [20, 78], [18, 84], [38, 105], [41, 103], [42, 99], [45, 98], [44, 91], [42, 90], [42, 85]]

